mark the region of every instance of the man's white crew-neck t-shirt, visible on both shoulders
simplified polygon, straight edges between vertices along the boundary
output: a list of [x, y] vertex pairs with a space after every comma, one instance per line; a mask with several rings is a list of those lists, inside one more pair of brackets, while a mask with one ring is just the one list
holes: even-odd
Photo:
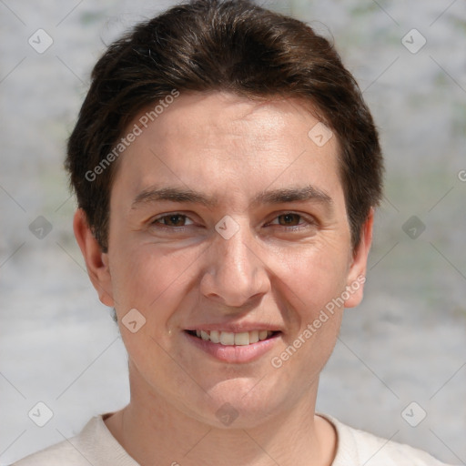
[[[329, 416], [338, 446], [332, 466], [447, 466], [425, 451], [380, 439]], [[108, 431], [102, 416], [92, 418], [76, 437], [38, 451], [12, 466], [138, 466]]]

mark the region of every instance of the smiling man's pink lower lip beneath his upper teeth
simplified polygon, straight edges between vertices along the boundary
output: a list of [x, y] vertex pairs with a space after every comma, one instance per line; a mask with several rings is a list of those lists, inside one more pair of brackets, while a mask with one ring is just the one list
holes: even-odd
[[279, 333], [277, 333], [271, 338], [263, 339], [257, 343], [237, 346], [212, 343], [212, 341], [199, 339], [198, 337], [187, 333], [187, 331], [183, 333], [192, 344], [207, 352], [210, 356], [213, 356], [217, 360], [236, 364], [258, 360], [258, 358], [267, 353], [268, 350], [277, 343], [277, 339], [279, 337]]

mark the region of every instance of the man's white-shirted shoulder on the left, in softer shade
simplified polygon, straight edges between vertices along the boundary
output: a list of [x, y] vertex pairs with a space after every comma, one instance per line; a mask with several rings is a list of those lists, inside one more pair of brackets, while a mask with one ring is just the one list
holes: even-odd
[[92, 418], [76, 437], [52, 445], [12, 466], [137, 466], [106, 429], [102, 416]]

